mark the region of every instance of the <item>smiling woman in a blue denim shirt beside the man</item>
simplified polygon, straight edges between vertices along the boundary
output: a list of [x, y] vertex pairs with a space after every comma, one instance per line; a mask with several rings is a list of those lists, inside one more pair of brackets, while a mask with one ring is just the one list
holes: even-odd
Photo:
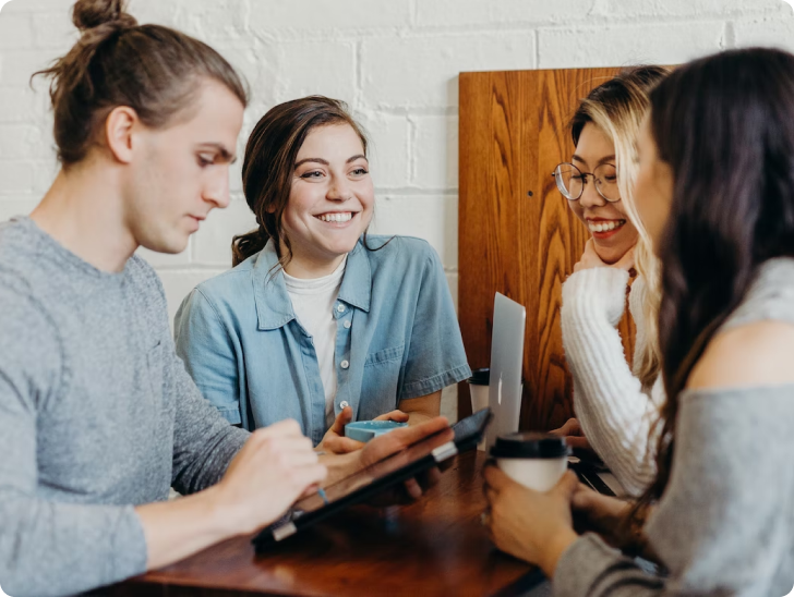
[[236, 267], [196, 287], [175, 321], [204, 397], [232, 424], [294, 418], [340, 452], [359, 447], [341, 437], [350, 421], [436, 416], [442, 389], [470, 375], [449, 289], [425, 241], [366, 234], [366, 138], [345, 105], [269, 110], [243, 190], [258, 228], [234, 237]]

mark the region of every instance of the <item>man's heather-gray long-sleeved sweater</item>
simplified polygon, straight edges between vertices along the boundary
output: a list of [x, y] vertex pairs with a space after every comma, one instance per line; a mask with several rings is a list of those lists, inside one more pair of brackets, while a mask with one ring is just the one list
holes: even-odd
[[0, 226], [0, 587], [73, 595], [145, 571], [133, 505], [216, 483], [248, 434], [177, 357], [154, 270], [105, 273]]

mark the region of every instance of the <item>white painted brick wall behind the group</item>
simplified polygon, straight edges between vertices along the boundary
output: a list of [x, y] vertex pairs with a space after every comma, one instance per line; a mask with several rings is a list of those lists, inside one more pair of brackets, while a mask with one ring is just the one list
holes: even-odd
[[[0, 11], [0, 220], [26, 214], [57, 171], [45, 85], [31, 74], [74, 41], [71, 0], [12, 0]], [[246, 76], [240, 137], [279, 101], [345, 99], [373, 142], [374, 230], [426, 239], [457, 297], [457, 75], [460, 71], [676, 63], [723, 48], [794, 50], [784, 0], [131, 0], [141, 22], [212, 44]], [[253, 226], [241, 197], [215, 211], [181, 255], [143, 252], [171, 314], [229, 266]], [[454, 415], [454, 394], [444, 410]]]

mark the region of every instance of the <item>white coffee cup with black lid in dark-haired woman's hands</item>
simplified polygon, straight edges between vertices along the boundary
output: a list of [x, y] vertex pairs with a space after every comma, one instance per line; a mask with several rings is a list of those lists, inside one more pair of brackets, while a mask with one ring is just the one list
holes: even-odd
[[565, 438], [519, 431], [498, 436], [491, 456], [516, 483], [536, 491], [549, 491], [568, 468], [569, 451]]

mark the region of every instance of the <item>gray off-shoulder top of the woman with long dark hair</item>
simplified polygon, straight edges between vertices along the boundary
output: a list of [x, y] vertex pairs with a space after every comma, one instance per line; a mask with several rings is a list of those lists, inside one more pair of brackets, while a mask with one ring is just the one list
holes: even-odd
[[[794, 259], [765, 264], [725, 328], [762, 319], [794, 324]], [[560, 559], [554, 594], [789, 595], [793, 421], [794, 385], [684, 392], [672, 476], [646, 527], [669, 577], [587, 534]]]

